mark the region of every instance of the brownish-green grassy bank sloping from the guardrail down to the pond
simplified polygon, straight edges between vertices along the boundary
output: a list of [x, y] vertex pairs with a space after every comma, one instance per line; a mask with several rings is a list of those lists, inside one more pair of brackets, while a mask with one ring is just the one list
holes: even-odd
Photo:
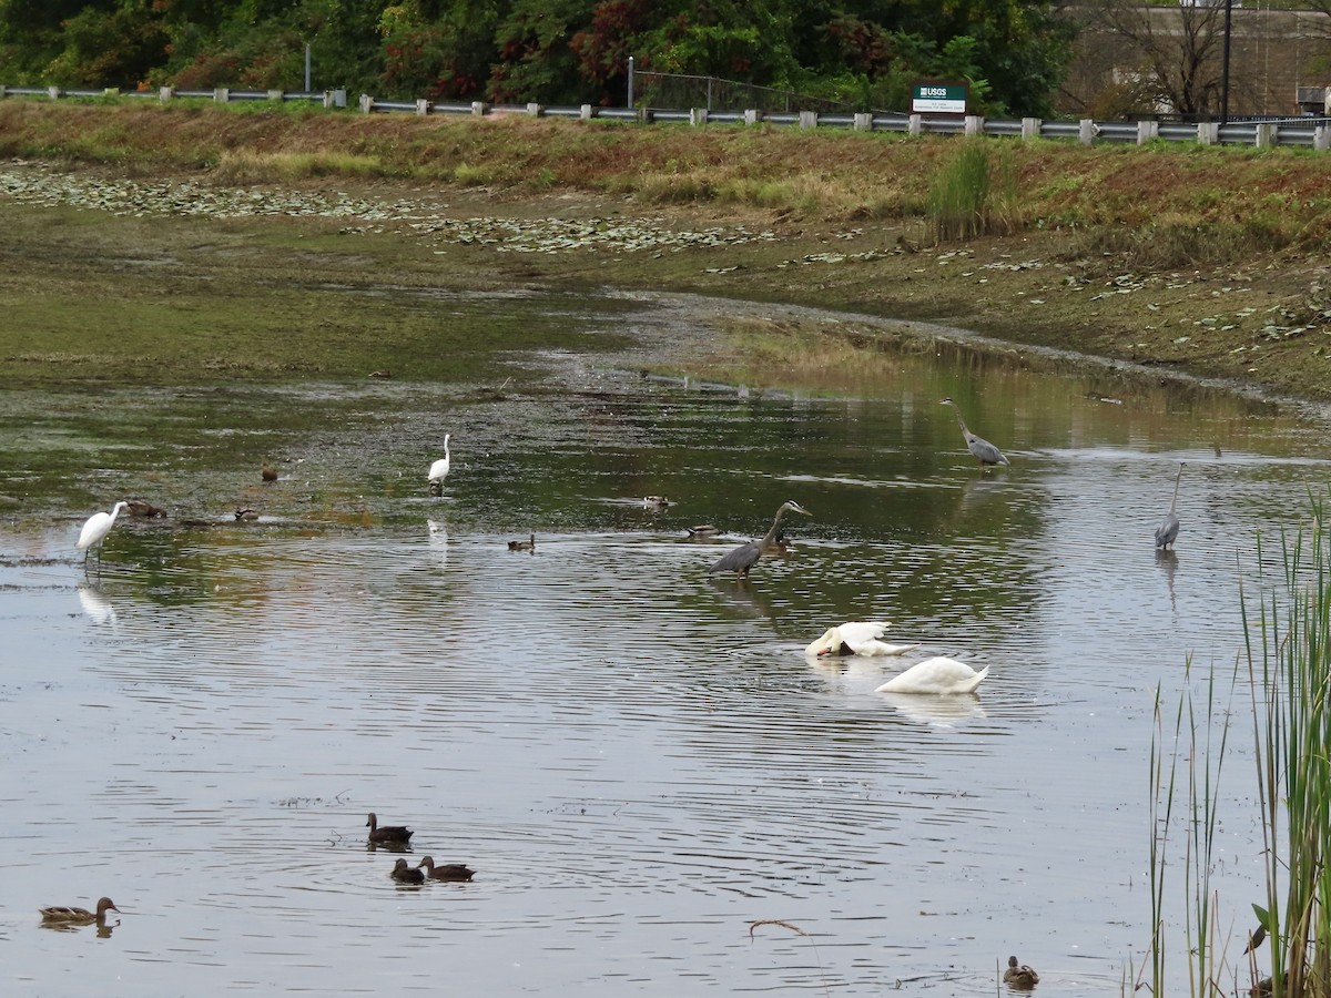
[[[299, 212], [230, 214], [212, 226], [178, 221], [181, 232], [204, 228], [174, 240], [184, 246], [172, 253], [194, 246], [204, 269], [229, 259], [230, 241], [228, 251], [284, 274], [287, 286], [315, 279], [329, 261], [353, 259], [362, 274], [431, 283], [610, 282], [780, 299], [1133, 359], [1162, 377], [1189, 371], [1331, 398], [1331, 158], [1290, 149], [1002, 145], [1004, 234], [940, 244], [932, 185], [958, 156], [956, 138], [0, 101], [0, 156], [108, 184], [188, 184], [196, 202], [209, 197], [198, 192], [282, 190], [434, 206], [426, 225], [375, 226], [365, 214], [347, 225]], [[156, 205], [116, 216], [137, 217], [148, 242], [165, 238], [145, 221], [168, 197], [154, 190]], [[4, 251], [15, 262], [32, 253], [79, 258], [77, 240], [52, 240], [44, 224], [23, 230], [31, 202], [0, 206], [15, 233]], [[44, 210], [68, 212], [68, 202]], [[87, 212], [60, 218], [98, 241]], [[459, 222], [473, 228], [459, 233]], [[566, 232], [511, 251], [516, 230], [550, 222], [640, 236], [607, 244]], [[218, 230], [222, 245], [212, 246]], [[671, 233], [712, 236], [672, 241]], [[124, 233], [110, 240], [121, 245]], [[272, 253], [261, 259], [265, 246]], [[49, 298], [57, 270], [41, 287], [4, 290], [20, 306], [39, 293]], [[67, 301], [77, 301], [77, 289], [68, 290]], [[278, 329], [310, 325], [297, 302], [268, 313]], [[77, 315], [68, 321], [87, 326]], [[41, 325], [32, 335], [40, 338]], [[385, 327], [401, 323], [391, 317]], [[15, 350], [0, 343], [5, 355]], [[270, 362], [277, 371], [286, 363]]]

